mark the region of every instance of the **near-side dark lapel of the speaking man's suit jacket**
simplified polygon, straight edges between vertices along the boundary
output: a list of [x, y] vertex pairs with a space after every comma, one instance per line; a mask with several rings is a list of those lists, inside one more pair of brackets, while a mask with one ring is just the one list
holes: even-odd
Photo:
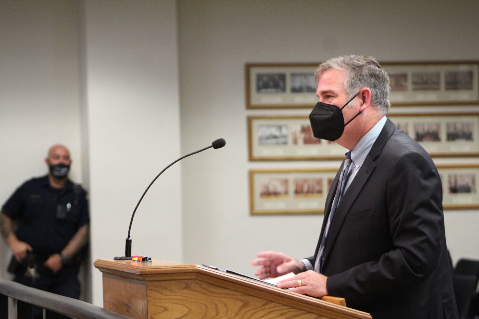
[[[344, 222], [344, 219], [346, 218], [346, 215], [348, 214], [349, 210], [351, 209], [351, 206], [353, 205], [358, 195], [361, 193], [361, 190], [363, 189], [369, 176], [371, 176], [374, 169], [376, 168], [374, 161], [381, 153], [381, 150], [384, 147], [384, 144], [388, 141], [389, 137], [392, 135], [395, 129], [396, 129], [396, 125], [388, 119], [386, 121], [386, 124], [384, 125], [383, 130], [381, 131], [381, 133], [379, 133], [379, 136], [377, 137], [376, 142], [371, 147], [369, 154], [366, 155], [366, 158], [363, 164], [361, 165], [361, 167], [359, 168], [359, 171], [357, 172], [356, 176], [354, 176], [353, 181], [349, 185], [348, 189], [346, 189], [346, 192], [344, 193], [343, 198], [339, 202], [338, 207], [336, 208], [336, 212], [334, 213], [334, 219], [333, 219], [333, 222], [331, 223], [330, 231], [328, 234], [328, 241], [326, 242], [326, 247], [324, 250], [323, 267], [324, 265], [326, 265], [328, 261], [328, 254], [331, 252], [331, 249], [334, 245], [334, 242], [336, 240], [336, 237], [338, 236], [339, 231], [341, 230], [341, 227]], [[332, 201], [332, 198], [331, 198], [331, 201]], [[331, 210], [331, 203], [329, 204], [329, 208]], [[326, 219], [326, 216], [325, 216], [325, 219]], [[320, 239], [322, 238], [324, 228], [325, 228], [325, 223], [323, 221], [321, 236], [319, 237]], [[318, 250], [318, 248], [316, 250]]]

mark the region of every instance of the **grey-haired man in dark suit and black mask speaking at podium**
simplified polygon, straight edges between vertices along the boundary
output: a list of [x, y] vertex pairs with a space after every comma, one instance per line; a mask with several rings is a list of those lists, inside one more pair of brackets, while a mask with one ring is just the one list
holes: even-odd
[[458, 318], [441, 180], [427, 152], [387, 119], [387, 73], [372, 57], [349, 55], [315, 76], [314, 135], [350, 152], [326, 199], [314, 256], [262, 252], [256, 275], [294, 272], [278, 287], [344, 297], [375, 319]]

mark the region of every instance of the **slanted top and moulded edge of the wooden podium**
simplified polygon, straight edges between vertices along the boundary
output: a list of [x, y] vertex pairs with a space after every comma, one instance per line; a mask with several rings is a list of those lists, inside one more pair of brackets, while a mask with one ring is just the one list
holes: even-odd
[[328, 309], [335, 313], [341, 313], [343, 316], [341, 318], [371, 318], [368, 313], [362, 311], [332, 304], [315, 297], [288, 292], [285, 289], [269, 286], [248, 278], [224, 273], [196, 264], [183, 264], [160, 259], [153, 259], [151, 262], [98, 259], [94, 262], [94, 266], [98, 268], [103, 275], [116, 275], [146, 282], [196, 279], [229, 289], [239, 289], [241, 291], [251, 290], [251, 293], [255, 296], [265, 298], [274, 297], [276, 301], [283, 300], [282, 303], [294, 304], [302, 308], [306, 307], [311, 311], [315, 309]]

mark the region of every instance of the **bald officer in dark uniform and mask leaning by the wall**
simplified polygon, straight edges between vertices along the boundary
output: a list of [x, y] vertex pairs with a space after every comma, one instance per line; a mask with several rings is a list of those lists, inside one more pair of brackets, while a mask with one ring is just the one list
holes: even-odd
[[78, 299], [89, 239], [87, 194], [68, 179], [65, 146], [52, 146], [45, 162], [48, 175], [23, 183], [0, 212], [0, 232], [13, 253], [9, 271], [18, 283]]

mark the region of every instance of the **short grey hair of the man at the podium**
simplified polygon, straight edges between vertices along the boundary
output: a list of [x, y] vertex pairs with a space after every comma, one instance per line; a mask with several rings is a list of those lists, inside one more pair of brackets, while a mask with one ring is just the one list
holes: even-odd
[[388, 100], [390, 90], [389, 77], [388, 73], [377, 63], [374, 57], [343, 55], [321, 63], [314, 72], [316, 86], [318, 86], [321, 74], [329, 69], [346, 71], [344, 89], [348, 94], [348, 99], [353, 98], [362, 88], [369, 88], [371, 90], [372, 104], [383, 115], [388, 113], [391, 105]]

